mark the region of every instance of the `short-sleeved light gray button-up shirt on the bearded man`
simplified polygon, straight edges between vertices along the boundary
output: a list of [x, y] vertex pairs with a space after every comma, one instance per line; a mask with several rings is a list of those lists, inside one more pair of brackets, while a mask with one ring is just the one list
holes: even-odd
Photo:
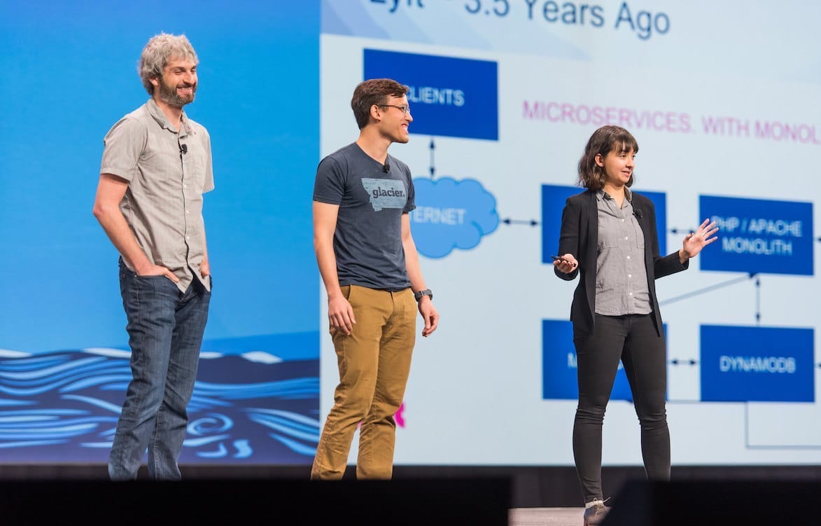
[[195, 277], [210, 289], [210, 279], [200, 275], [203, 194], [213, 190], [208, 131], [186, 113], [177, 131], [149, 99], [120, 119], [103, 145], [100, 173], [128, 182], [120, 210], [149, 261], [177, 275], [182, 292]]

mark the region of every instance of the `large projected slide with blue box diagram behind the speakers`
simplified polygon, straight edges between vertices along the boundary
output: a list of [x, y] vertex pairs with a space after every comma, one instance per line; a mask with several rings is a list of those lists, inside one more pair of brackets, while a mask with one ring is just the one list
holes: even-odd
[[[323, 154], [356, 137], [357, 82], [410, 88], [410, 142], [391, 153], [415, 175], [411, 228], [442, 319], [415, 348], [397, 463], [572, 464], [577, 282], [557, 279], [550, 256], [565, 200], [583, 190], [586, 141], [613, 124], [639, 143], [632, 190], [654, 202], [663, 255], [704, 219], [721, 228], [657, 282], [673, 464], [818, 464], [816, 14], [801, 2], [323, 2]], [[336, 363], [322, 334], [324, 414]], [[639, 431], [620, 369], [604, 463], [641, 464]]]

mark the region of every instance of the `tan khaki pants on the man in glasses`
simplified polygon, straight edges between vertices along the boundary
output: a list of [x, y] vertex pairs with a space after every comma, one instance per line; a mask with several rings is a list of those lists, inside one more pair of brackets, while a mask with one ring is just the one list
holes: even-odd
[[356, 478], [389, 479], [396, 439], [394, 413], [402, 403], [416, 338], [417, 304], [410, 288], [388, 292], [345, 285], [354, 311], [350, 335], [331, 330], [339, 384], [319, 437], [312, 479], [339, 479], [361, 422]]

